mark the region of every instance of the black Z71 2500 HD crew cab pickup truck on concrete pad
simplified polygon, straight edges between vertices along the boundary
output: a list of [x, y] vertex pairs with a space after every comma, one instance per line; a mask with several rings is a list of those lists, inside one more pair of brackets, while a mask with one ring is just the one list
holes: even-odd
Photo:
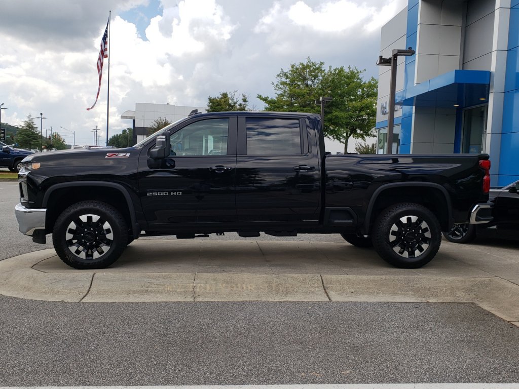
[[[418, 268], [442, 231], [487, 223], [488, 155], [329, 155], [319, 115], [212, 113], [125, 149], [31, 155], [20, 231], [77, 269], [110, 266], [141, 235], [340, 233]], [[347, 255], [347, 251], [345, 251]]]

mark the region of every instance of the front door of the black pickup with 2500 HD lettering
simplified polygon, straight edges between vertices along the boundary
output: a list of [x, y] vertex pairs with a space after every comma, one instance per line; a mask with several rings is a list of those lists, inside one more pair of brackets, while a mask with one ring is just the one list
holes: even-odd
[[171, 133], [170, 156], [149, 168], [140, 157], [141, 203], [150, 225], [236, 221], [236, 118], [191, 121]]

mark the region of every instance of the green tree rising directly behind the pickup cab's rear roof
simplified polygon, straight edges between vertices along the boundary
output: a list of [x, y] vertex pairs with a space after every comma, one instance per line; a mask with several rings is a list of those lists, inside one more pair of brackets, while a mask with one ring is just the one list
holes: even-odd
[[326, 75], [324, 62], [293, 63], [288, 70], [283, 70], [272, 82], [276, 91], [275, 98], [257, 95], [258, 100], [265, 103], [265, 110], [278, 112], [319, 113], [320, 108], [315, 101], [323, 96], [322, 80]]

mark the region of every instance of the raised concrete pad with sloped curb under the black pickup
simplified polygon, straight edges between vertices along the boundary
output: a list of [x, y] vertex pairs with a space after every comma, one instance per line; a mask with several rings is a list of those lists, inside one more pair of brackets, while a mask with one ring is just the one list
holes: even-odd
[[338, 242], [142, 239], [109, 269], [75, 270], [52, 249], [0, 261], [0, 294], [70, 302], [472, 302], [519, 326], [516, 243], [442, 242], [397, 269]]

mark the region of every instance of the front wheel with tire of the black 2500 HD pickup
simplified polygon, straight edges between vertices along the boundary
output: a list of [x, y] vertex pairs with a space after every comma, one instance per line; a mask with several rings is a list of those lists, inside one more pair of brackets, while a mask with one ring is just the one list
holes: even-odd
[[56, 253], [75, 269], [103, 269], [114, 263], [128, 242], [126, 221], [112, 205], [81, 201], [64, 210], [52, 231]]

